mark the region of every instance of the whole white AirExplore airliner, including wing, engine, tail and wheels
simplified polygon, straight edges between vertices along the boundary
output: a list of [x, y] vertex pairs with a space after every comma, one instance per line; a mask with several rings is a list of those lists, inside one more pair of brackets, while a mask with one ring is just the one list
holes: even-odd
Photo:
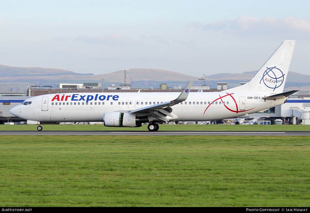
[[59, 93], [31, 97], [11, 109], [11, 114], [37, 124], [41, 122], [103, 121], [111, 127], [140, 127], [149, 131], [158, 122], [206, 121], [235, 118], [286, 102], [298, 90], [283, 93], [295, 40], [286, 40], [250, 82], [222, 92], [189, 93]]

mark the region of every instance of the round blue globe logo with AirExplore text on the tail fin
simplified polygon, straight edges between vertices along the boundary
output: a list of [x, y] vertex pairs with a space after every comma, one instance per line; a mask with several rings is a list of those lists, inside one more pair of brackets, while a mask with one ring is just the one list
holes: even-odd
[[262, 79], [260, 79], [259, 84], [262, 82], [266, 85], [266, 87], [273, 89], [273, 91], [280, 87], [284, 82], [283, 72], [275, 67], [268, 68], [265, 70]]

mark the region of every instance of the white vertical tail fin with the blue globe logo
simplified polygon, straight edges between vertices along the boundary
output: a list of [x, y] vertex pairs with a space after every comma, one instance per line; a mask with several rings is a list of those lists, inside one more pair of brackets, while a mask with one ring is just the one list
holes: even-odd
[[295, 40], [282, 42], [280, 47], [248, 83], [228, 90], [231, 92], [282, 93], [295, 42]]

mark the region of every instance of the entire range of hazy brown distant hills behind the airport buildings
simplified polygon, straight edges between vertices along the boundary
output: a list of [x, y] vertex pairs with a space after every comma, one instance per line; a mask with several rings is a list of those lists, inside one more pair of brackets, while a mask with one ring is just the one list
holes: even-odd
[[[217, 82], [227, 82], [228, 87], [240, 85], [240, 82], [248, 82], [257, 73], [256, 71], [244, 73], [219, 73], [206, 76], [206, 84], [216, 88]], [[194, 80], [194, 85], [201, 85], [199, 77], [185, 75], [169, 70], [135, 68], [126, 70], [127, 83], [132, 83], [133, 88], [158, 88], [160, 84], [168, 84], [168, 87], [186, 85], [188, 80]], [[202, 75], [202, 74], [201, 74]], [[1, 83], [32, 83], [39, 85], [57, 86], [60, 83], [100, 83], [105, 79], [104, 87], [108, 85], [124, 83], [124, 70], [107, 74], [93, 75], [75, 73], [69, 70], [40, 68], [40, 67], [13, 67], [0, 65]], [[289, 72], [286, 79], [286, 87], [300, 87], [310, 85], [310, 75]]]

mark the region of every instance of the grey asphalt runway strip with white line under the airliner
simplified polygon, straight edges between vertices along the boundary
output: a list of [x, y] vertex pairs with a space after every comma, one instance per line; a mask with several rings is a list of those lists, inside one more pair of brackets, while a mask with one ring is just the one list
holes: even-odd
[[0, 131], [0, 135], [238, 135], [310, 136], [310, 131]]

